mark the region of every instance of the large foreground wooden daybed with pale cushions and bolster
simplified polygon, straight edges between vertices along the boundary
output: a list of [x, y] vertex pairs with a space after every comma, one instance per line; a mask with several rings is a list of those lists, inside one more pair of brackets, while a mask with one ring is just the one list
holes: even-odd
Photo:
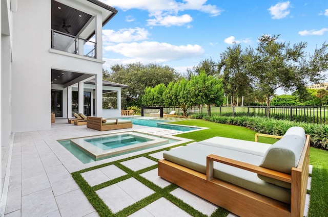
[[310, 135], [292, 127], [282, 137], [258, 136], [281, 139], [194, 142], [163, 153], [158, 175], [239, 216], [303, 216]]

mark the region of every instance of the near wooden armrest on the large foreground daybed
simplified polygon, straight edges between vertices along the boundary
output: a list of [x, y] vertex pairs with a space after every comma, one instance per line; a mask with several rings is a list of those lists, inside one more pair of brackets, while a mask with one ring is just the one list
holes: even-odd
[[213, 173], [214, 173], [214, 161], [219, 162], [219, 163], [224, 163], [230, 166], [234, 166], [237, 168], [241, 168], [242, 170], [247, 170], [247, 171], [251, 171], [253, 173], [257, 173], [263, 176], [267, 176], [273, 179], [277, 179], [283, 182], [288, 182], [288, 183], [292, 183], [292, 176], [289, 174], [285, 174], [285, 173], [281, 173], [278, 171], [274, 171], [274, 170], [270, 170], [261, 166], [257, 166], [257, 165], [253, 165], [250, 163], [244, 163], [238, 160], [233, 160], [230, 158], [226, 158], [226, 157], [221, 157], [221, 156], [217, 156], [217, 155], [209, 155], [206, 157], [206, 178], [208, 181], [210, 181], [213, 178]]

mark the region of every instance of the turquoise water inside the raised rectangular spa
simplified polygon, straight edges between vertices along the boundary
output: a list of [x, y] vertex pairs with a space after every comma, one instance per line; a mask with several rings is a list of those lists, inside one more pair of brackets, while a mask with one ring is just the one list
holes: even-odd
[[152, 141], [152, 140], [153, 139], [131, 135], [131, 134], [85, 139], [85, 141], [103, 150], [126, 147], [132, 144], [138, 144], [141, 142]]

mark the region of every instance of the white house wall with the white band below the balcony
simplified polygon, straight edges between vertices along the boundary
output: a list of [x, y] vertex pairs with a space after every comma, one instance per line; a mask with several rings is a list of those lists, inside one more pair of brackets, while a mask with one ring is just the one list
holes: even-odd
[[51, 49], [51, 0], [18, 0], [13, 24], [11, 131], [50, 129], [51, 69], [102, 76], [103, 61]]

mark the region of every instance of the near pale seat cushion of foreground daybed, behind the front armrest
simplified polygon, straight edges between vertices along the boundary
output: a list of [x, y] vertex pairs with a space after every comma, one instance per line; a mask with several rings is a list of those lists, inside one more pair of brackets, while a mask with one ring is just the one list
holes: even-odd
[[[215, 154], [255, 165], [259, 165], [262, 160], [262, 157], [258, 155], [207, 146], [197, 142], [192, 143], [186, 147], [165, 152], [163, 153], [163, 157], [171, 162], [206, 174], [206, 157], [210, 154]], [[290, 204], [290, 189], [265, 182], [259, 179], [256, 173], [214, 162], [214, 177], [257, 192], [258, 194]]]

